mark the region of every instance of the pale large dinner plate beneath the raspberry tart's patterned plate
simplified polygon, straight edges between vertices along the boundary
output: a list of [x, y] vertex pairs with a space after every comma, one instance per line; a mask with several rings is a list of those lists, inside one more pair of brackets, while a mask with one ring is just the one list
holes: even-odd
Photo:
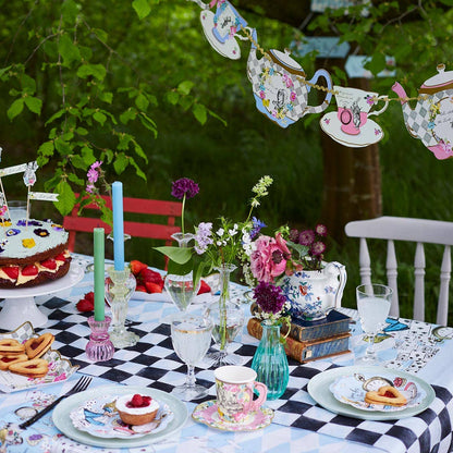
[[[140, 438], [131, 439], [103, 439], [89, 434], [88, 432], [76, 429], [70, 418], [72, 411], [79, 407], [85, 401], [95, 399], [99, 395], [118, 396], [124, 394], [139, 393], [143, 395], [149, 395], [170, 407], [173, 413], [173, 419], [167, 425], [167, 427], [159, 432], [150, 432]], [[172, 396], [169, 393], [162, 392], [157, 389], [150, 389], [148, 387], [139, 385], [120, 385], [120, 384], [108, 384], [96, 387], [85, 392], [76, 393], [68, 396], [53, 409], [52, 420], [56, 427], [69, 438], [87, 445], [103, 446], [103, 448], [135, 448], [149, 445], [154, 442], [160, 441], [168, 438], [172, 433], [179, 431], [187, 419], [187, 408], [185, 404]]]

